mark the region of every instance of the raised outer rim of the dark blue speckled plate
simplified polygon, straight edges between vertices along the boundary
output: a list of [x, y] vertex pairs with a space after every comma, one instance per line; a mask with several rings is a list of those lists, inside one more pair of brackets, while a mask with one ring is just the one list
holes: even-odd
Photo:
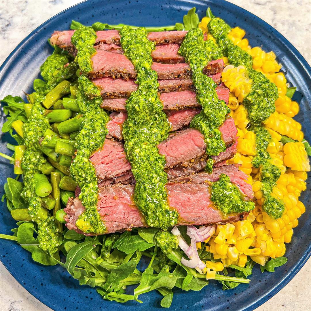
[[[179, 0], [181, 2], [185, 2], [185, 3], [189, 3], [187, 0]], [[204, 2], [206, 2], [205, 0], [197, 0], [198, 2], [201, 2], [204, 4]], [[259, 24], [262, 24], [264, 26], [264, 28], [267, 29], [267, 27], [269, 27], [272, 31], [272, 33], [274, 35], [276, 35], [278, 37], [278, 39], [290, 50], [289, 52], [292, 53], [292, 55], [296, 58], [296, 60], [300, 63], [300, 65], [304, 68], [305, 72], [307, 73], [309, 79], [311, 80], [311, 66], [309, 65], [309, 63], [306, 61], [306, 59], [301, 55], [301, 53], [298, 51], [298, 49], [292, 44], [290, 43], [290, 41], [288, 39], [285, 38], [284, 35], [282, 35], [278, 30], [276, 30], [273, 26], [271, 26], [269, 23], [267, 23], [266, 21], [264, 21], [263, 19], [261, 19], [260, 17], [258, 17], [257, 15], [249, 12], [248, 10], [244, 9], [243, 7], [240, 7], [238, 5], [236, 5], [235, 3], [232, 2], [228, 2], [225, 0], [212, 0], [215, 3], [222, 3], [222, 4], [229, 4], [231, 6], [234, 6], [235, 8], [238, 8], [239, 10], [242, 10], [243, 13], [248, 14], [252, 17], [255, 18], [256, 22], [258, 22]], [[55, 17], [63, 14], [64, 12], [66, 12], [67, 10], [73, 8], [73, 7], [77, 7], [80, 6], [83, 3], [89, 2], [88, 0], [84, 0], [81, 1], [77, 4], [74, 4], [70, 7], [67, 7], [66, 9], [62, 10], [61, 12], [53, 15], [52, 17], [50, 17], [49, 19], [47, 19], [46, 21], [44, 21], [42, 24], [40, 24], [38, 27], [36, 27], [33, 31], [30, 32], [29, 35], [27, 35], [23, 40], [21, 40], [21, 42], [19, 44], [16, 45], [16, 47], [12, 50], [12, 52], [7, 56], [7, 58], [5, 58], [5, 60], [3, 61], [3, 63], [0, 66], [0, 75], [2, 73], [3, 70], [5, 70], [7, 63], [10, 61], [10, 59], [15, 55], [15, 53], [18, 51], [18, 49], [21, 48], [21, 45], [24, 44], [32, 35], [34, 35], [38, 30], [40, 30], [41, 28], [44, 27], [45, 24], [47, 24], [48, 22], [50, 22], [51, 20], [53, 20]], [[206, 2], [208, 4], [208, 2]], [[290, 244], [288, 244], [290, 245]], [[294, 276], [299, 272], [299, 270], [304, 266], [304, 264], [308, 261], [308, 259], [311, 256], [311, 242], [309, 242], [309, 247], [306, 249], [306, 251], [304, 252], [304, 254], [302, 255], [302, 257], [299, 259], [299, 261], [297, 261], [295, 263], [295, 266], [292, 270], [290, 270], [289, 272], [287, 272], [285, 274], [285, 276], [279, 280], [277, 282], [277, 284], [275, 284], [265, 295], [258, 297], [258, 299], [253, 300], [252, 302], [250, 302], [248, 305], [245, 305], [245, 307], [243, 308], [243, 310], [253, 310], [255, 308], [258, 308], [260, 305], [262, 305], [263, 303], [265, 303], [267, 300], [269, 300], [270, 298], [272, 298], [274, 295], [276, 295], [285, 285], [287, 285], [293, 278]], [[26, 289], [26, 285], [23, 284], [22, 280], [17, 276], [13, 275], [13, 270], [12, 272], [10, 271], [9, 265], [6, 264], [4, 262], [4, 259], [2, 257], [0, 257], [0, 261], [2, 262], [2, 264], [4, 265], [4, 267], [7, 269], [7, 271], [11, 274], [11, 276], [33, 297], [35, 297], [37, 300], [39, 300], [41, 303], [43, 303], [44, 305], [46, 305], [47, 307], [51, 308], [49, 304], [49, 300], [48, 299], [44, 299], [43, 297], [38, 298], [36, 295], [31, 294], [27, 289]], [[33, 262], [35, 263], [35, 262]], [[45, 266], [44, 266], [45, 267]], [[44, 302], [43, 302], [44, 300]]]

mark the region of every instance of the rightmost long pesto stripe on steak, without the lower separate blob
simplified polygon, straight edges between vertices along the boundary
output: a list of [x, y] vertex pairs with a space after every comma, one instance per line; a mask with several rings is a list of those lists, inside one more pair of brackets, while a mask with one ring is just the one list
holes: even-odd
[[[219, 100], [216, 93], [216, 83], [203, 74], [203, 68], [211, 59], [221, 56], [220, 50], [212, 40], [203, 41], [200, 28], [188, 31], [183, 40], [179, 53], [185, 57], [192, 70], [192, 80], [196, 88], [197, 101], [202, 105], [202, 111], [190, 123], [190, 127], [199, 130], [206, 143], [206, 153], [217, 156], [226, 150], [219, 127], [225, 121], [225, 116], [230, 113], [223, 100]], [[207, 170], [211, 171], [212, 161], [208, 161]]]

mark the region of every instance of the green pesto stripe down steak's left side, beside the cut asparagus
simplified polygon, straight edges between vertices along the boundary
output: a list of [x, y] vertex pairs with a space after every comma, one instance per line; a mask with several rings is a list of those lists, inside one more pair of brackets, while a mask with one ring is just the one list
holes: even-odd
[[[79, 52], [87, 50], [95, 43], [96, 34], [91, 28], [81, 27], [72, 36], [72, 43]], [[88, 56], [90, 60], [90, 55]], [[87, 63], [87, 62], [86, 62]], [[84, 66], [84, 65], [82, 65]], [[81, 68], [81, 67], [80, 67]], [[84, 72], [85, 70], [81, 68]], [[83, 114], [81, 131], [76, 137], [76, 157], [70, 166], [70, 173], [81, 188], [79, 198], [85, 211], [79, 216], [76, 225], [85, 233], [103, 234], [106, 227], [97, 211], [98, 186], [94, 166], [89, 160], [93, 151], [103, 146], [108, 130], [106, 123], [108, 114], [100, 109], [102, 101], [100, 92], [96, 86], [84, 75], [78, 78], [77, 103]], [[86, 91], [92, 94], [92, 99], [86, 96]]]

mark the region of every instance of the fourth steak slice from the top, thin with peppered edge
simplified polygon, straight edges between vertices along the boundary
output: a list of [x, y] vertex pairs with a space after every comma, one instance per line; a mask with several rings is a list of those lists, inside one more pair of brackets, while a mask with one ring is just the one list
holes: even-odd
[[[221, 72], [215, 75], [208, 75], [211, 77], [216, 84], [220, 83]], [[100, 89], [100, 95], [103, 98], [120, 98], [129, 97], [132, 92], [137, 90], [137, 84], [133, 79], [113, 79], [111, 77], [95, 78], [91, 81]], [[159, 92], [167, 93], [172, 91], [192, 91], [194, 90], [193, 81], [191, 79], [169, 79], [169, 80], [158, 80]], [[93, 94], [86, 94], [92, 97]]]

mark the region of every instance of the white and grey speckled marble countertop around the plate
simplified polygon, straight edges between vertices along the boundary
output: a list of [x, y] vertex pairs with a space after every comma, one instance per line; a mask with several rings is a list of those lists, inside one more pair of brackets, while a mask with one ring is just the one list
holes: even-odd
[[[32, 30], [79, 0], [0, 0], [0, 63]], [[229, 0], [254, 13], [281, 32], [311, 63], [310, 0]], [[34, 12], [39, 12], [34, 14]], [[12, 31], [16, 30], [18, 31]], [[299, 29], [299, 32], [297, 30]], [[309, 37], [310, 38], [310, 37]], [[294, 233], [295, 234], [295, 233]], [[51, 310], [30, 295], [0, 263], [0, 310]], [[309, 310], [311, 305], [311, 259], [279, 293], [256, 311]], [[71, 311], [71, 310], [69, 310]]]

